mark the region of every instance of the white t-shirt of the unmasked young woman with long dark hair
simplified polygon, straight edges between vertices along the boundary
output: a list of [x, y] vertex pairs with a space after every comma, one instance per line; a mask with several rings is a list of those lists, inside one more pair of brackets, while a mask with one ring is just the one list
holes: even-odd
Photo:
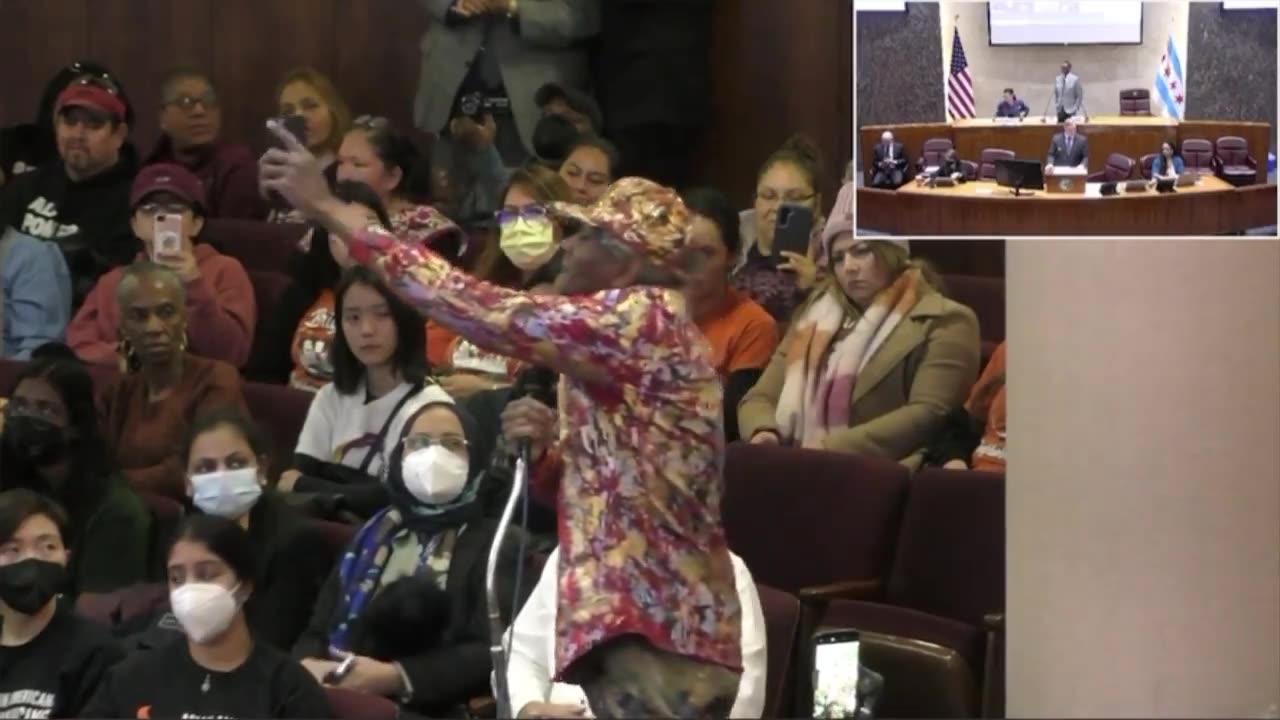
[[392, 447], [401, 430], [404, 429], [404, 420], [417, 411], [419, 407], [430, 402], [453, 402], [449, 393], [440, 386], [429, 384], [411, 397], [401, 407], [387, 429], [383, 447], [372, 447], [378, 438], [378, 430], [383, 429], [387, 416], [390, 415], [396, 405], [399, 404], [404, 393], [413, 389], [410, 383], [401, 383], [396, 389], [374, 400], [365, 402], [367, 393], [365, 382], [352, 395], [342, 395], [333, 383], [320, 388], [311, 407], [307, 410], [307, 420], [302, 424], [298, 434], [298, 446], [294, 452], [301, 452], [323, 460], [325, 462], [339, 462], [348, 468], [360, 468], [369, 452], [375, 452], [374, 460], [369, 464], [366, 473], [379, 477], [383, 470], [383, 461], [390, 457]]

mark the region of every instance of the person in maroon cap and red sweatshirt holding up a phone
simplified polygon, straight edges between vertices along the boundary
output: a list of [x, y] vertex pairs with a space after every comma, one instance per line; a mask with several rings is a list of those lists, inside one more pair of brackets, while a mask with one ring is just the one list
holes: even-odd
[[[131, 193], [137, 260], [173, 270], [182, 281], [187, 348], [239, 368], [248, 360], [257, 324], [253, 286], [239, 260], [196, 242], [205, 225], [205, 191], [182, 165], [148, 165]], [[91, 365], [119, 363], [116, 291], [124, 268], [102, 275], [67, 328], [67, 345]]]

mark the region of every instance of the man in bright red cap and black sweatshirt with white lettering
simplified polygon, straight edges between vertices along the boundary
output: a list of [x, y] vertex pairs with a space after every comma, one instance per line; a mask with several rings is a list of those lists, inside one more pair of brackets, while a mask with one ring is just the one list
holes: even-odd
[[73, 305], [79, 307], [97, 278], [128, 263], [137, 250], [129, 229], [137, 164], [122, 152], [128, 109], [109, 77], [72, 81], [54, 108], [61, 161], [6, 184], [0, 223], [58, 243], [70, 269]]

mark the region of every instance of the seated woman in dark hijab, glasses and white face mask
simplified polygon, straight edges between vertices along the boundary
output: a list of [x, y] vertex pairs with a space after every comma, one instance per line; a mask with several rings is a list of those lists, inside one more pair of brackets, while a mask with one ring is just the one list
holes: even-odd
[[[293, 647], [323, 684], [433, 717], [457, 716], [488, 692], [485, 565], [497, 521], [477, 500], [486, 461], [475, 438], [452, 402], [424, 405], [404, 423], [388, 462], [392, 505], [356, 533]], [[504, 621], [527, 596], [520, 575], [534, 578], [521, 544], [515, 533], [503, 541]]]

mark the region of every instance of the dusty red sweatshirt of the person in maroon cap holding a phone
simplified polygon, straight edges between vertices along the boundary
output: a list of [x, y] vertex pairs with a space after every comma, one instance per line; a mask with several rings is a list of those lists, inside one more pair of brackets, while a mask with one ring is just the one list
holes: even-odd
[[[239, 260], [205, 243], [195, 252], [200, 277], [187, 283], [187, 351], [239, 368], [248, 360], [257, 324], [253, 284]], [[137, 259], [146, 255], [140, 252]], [[115, 268], [102, 275], [67, 327], [67, 345], [86, 363], [119, 363], [115, 288], [123, 273], [124, 268]]]

